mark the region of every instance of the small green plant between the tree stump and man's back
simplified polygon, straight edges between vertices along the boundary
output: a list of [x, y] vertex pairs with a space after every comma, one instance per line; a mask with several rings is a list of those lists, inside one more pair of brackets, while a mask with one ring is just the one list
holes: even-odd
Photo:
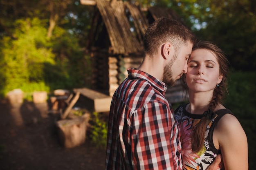
[[94, 112], [93, 115], [91, 141], [98, 148], [105, 149], [107, 146], [108, 127], [106, 122], [100, 118], [99, 113]]

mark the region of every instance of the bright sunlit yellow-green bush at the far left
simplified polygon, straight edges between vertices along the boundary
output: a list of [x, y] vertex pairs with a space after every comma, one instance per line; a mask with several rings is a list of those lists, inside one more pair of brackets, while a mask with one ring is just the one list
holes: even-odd
[[[1, 95], [14, 88], [22, 91], [33, 91], [34, 84], [39, 84], [41, 90], [47, 90], [43, 82], [43, 63], [54, 63], [54, 54], [47, 48], [46, 29], [38, 18], [16, 20], [13, 34], [16, 39], [3, 36], [0, 51], [2, 51]], [[25, 88], [27, 87], [27, 88]], [[43, 89], [42, 89], [43, 87]]]

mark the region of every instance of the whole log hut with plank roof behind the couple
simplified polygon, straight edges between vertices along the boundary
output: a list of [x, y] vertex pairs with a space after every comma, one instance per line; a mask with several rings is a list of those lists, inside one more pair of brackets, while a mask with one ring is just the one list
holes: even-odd
[[[159, 17], [180, 20], [170, 8], [142, 9], [122, 0], [80, 0], [94, 5], [94, 17], [87, 49], [92, 62], [92, 89], [112, 96], [117, 86], [128, 76], [127, 69], [137, 68], [143, 60], [143, 38], [149, 24]], [[175, 89], [175, 93], [173, 93]], [[181, 87], [168, 88], [170, 102], [181, 101]], [[172, 95], [173, 94], [173, 95]], [[175, 95], [179, 96], [175, 96]]]

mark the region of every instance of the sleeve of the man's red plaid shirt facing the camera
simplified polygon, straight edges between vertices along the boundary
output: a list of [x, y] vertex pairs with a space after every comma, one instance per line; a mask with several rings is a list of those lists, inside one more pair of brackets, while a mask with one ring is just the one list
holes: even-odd
[[150, 102], [137, 109], [130, 119], [131, 155], [135, 170], [173, 170], [171, 148], [175, 123], [168, 105]]

